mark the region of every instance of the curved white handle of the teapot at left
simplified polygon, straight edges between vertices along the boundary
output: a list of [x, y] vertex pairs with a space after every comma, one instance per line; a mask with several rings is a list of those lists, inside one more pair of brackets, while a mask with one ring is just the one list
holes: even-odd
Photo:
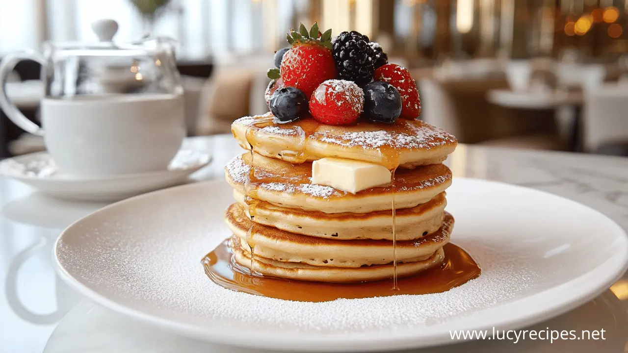
[[13, 71], [15, 65], [21, 60], [35, 60], [41, 65], [46, 65], [45, 58], [35, 50], [27, 50], [21, 53], [11, 53], [6, 55], [2, 62], [0, 62], [0, 108], [3, 109], [6, 116], [11, 119], [17, 126], [24, 129], [28, 133], [43, 136], [43, 129], [40, 128], [35, 122], [28, 120], [27, 117], [19, 111], [13, 103], [9, 102], [9, 97], [6, 92], [6, 82], [9, 78], [9, 73]]

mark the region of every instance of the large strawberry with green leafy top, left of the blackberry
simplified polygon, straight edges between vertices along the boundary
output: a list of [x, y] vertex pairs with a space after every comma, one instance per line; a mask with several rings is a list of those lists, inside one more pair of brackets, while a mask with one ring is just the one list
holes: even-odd
[[280, 72], [285, 87], [296, 87], [306, 97], [325, 80], [336, 77], [336, 67], [331, 51], [332, 30], [327, 30], [318, 38], [318, 24], [310, 31], [301, 24], [299, 31], [291, 31], [288, 43], [292, 48], [283, 55]]

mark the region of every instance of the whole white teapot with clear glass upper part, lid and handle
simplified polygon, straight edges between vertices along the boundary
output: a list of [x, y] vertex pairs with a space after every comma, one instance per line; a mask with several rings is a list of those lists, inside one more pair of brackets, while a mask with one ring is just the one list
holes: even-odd
[[[162, 37], [113, 43], [117, 23], [112, 20], [97, 21], [94, 29], [99, 43], [46, 42], [43, 53], [5, 55], [0, 62], [0, 107], [19, 127], [44, 136], [65, 174], [165, 170], [185, 137], [175, 43]], [[41, 64], [41, 128], [4, 91], [9, 73], [26, 59]]]

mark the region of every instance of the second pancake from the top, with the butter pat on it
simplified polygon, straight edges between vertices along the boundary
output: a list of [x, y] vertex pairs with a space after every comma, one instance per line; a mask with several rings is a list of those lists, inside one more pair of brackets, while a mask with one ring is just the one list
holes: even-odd
[[[390, 185], [362, 190], [355, 194], [336, 188], [311, 183], [311, 163], [293, 165], [261, 155], [254, 155], [254, 194], [257, 200], [280, 207], [316, 210], [324, 213], [365, 213], [390, 210]], [[227, 182], [245, 193], [245, 184], [251, 170], [251, 153], [236, 156], [225, 166]], [[452, 183], [452, 171], [442, 164], [395, 172], [395, 206], [405, 209], [425, 204]]]

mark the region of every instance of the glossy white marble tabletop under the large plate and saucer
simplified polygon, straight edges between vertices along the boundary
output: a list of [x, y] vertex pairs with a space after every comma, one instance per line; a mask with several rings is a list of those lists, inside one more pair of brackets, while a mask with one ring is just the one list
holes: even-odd
[[[193, 181], [222, 178], [240, 151], [231, 136], [192, 138], [186, 148], [211, 151]], [[628, 229], [628, 158], [458, 146], [447, 161], [455, 176], [513, 183], [555, 193], [608, 215]], [[53, 242], [73, 221], [104, 204], [55, 200], [0, 178], [0, 353], [251, 352], [162, 332], [83, 300], [51, 266]], [[594, 236], [594, 235], [593, 235]], [[475, 341], [420, 352], [628, 352], [628, 276], [595, 300], [548, 322], [558, 330], [599, 330], [605, 340]], [[453, 342], [452, 342], [453, 343]]]

